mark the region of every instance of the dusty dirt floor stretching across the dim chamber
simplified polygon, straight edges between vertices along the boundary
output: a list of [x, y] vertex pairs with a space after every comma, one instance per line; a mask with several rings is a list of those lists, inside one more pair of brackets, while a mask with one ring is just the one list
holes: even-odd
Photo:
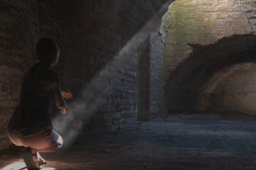
[[[171, 118], [127, 123], [83, 135], [70, 149], [42, 154], [46, 169], [256, 169], [256, 121]], [[18, 154], [0, 152], [1, 169], [26, 169]]]

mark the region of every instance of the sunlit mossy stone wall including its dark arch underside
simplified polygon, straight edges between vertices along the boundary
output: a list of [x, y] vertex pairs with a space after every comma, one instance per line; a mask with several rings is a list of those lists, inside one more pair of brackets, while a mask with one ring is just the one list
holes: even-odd
[[[216, 108], [212, 103], [217, 99], [211, 94], [220, 85], [207, 84], [230, 83], [242, 68], [252, 72], [241, 63], [249, 62], [253, 68], [255, 5], [254, 1], [246, 0], [178, 0], [169, 6], [164, 16], [165, 114]], [[240, 69], [235, 71], [236, 67]], [[225, 81], [222, 74], [228, 74]], [[225, 108], [220, 106], [220, 110]]]

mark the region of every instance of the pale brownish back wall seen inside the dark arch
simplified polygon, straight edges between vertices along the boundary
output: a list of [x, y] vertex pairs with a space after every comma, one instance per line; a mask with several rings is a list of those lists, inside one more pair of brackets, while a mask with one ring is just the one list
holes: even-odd
[[216, 72], [201, 93], [201, 96], [205, 97], [201, 98], [201, 109], [213, 108], [215, 111], [235, 111], [255, 115], [255, 69], [255, 63], [245, 62]]

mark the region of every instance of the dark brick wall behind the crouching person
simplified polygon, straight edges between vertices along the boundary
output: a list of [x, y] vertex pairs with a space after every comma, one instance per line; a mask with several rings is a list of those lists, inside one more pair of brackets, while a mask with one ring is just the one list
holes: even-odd
[[[119, 52], [166, 1], [1, 0], [0, 149], [9, 144], [6, 124], [18, 101], [21, 77], [36, 62], [34, 46], [42, 37], [58, 42], [60, 61], [53, 69], [63, 89], [75, 96], [68, 101], [70, 114], [63, 115], [73, 120], [65, 126], [79, 124], [75, 120], [88, 110], [93, 114], [81, 124], [90, 128], [135, 118], [137, 51], [126, 52], [123, 60]], [[58, 128], [63, 122], [57, 118], [54, 123]]]

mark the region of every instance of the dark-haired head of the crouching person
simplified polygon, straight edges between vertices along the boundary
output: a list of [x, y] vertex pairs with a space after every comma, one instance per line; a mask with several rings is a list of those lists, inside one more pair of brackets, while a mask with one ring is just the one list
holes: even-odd
[[42, 38], [36, 43], [36, 55], [40, 62], [55, 66], [58, 63], [60, 50], [55, 41], [50, 38]]

